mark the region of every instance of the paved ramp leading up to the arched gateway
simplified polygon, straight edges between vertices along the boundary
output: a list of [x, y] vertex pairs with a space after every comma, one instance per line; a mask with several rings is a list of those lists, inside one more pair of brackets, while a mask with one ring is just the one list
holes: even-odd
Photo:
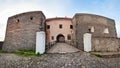
[[78, 51], [80, 50], [66, 43], [56, 43], [47, 53], [72, 53]]

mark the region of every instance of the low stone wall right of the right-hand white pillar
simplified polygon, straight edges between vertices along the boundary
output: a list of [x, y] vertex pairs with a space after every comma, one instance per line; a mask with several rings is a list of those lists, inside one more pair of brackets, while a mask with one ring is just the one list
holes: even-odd
[[92, 51], [118, 52], [120, 51], [120, 38], [92, 37]]

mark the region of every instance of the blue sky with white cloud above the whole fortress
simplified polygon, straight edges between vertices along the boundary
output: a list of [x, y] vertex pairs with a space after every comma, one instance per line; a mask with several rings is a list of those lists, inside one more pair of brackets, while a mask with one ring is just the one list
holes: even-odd
[[8, 17], [28, 11], [43, 11], [47, 18], [73, 17], [75, 13], [102, 15], [115, 20], [120, 37], [120, 0], [0, 0], [0, 40]]

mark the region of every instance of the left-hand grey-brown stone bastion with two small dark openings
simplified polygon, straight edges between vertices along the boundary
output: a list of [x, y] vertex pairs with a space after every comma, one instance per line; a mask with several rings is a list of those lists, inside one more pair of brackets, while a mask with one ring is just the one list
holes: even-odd
[[[41, 11], [18, 14], [8, 18], [4, 51], [35, 50], [36, 32], [45, 30], [45, 16]], [[43, 29], [39, 29], [42, 26]]]

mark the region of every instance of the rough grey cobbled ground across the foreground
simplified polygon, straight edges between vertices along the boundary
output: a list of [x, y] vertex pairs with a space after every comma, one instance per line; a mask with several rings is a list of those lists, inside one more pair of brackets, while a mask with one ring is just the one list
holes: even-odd
[[120, 58], [99, 58], [85, 52], [40, 57], [0, 54], [0, 68], [120, 68]]

